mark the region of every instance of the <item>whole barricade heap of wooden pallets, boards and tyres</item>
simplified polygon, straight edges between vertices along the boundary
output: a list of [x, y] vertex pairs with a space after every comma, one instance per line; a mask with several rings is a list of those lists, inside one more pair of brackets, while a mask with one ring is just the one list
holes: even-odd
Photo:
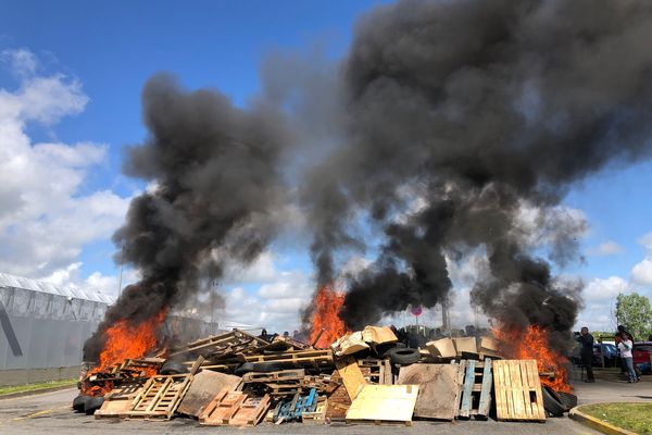
[[367, 326], [319, 349], [317, 334], [308, 345], [234, 330], [99, 365], [80, 382], [73, 407], [96, 418], [185, 415], [241, 426], [410, 425], [413, 418], [543, 422], [575, 405], [563, 358], [548, 350], [544, 330], [496, 331], [494, 337], [443, 338], [413, 349], [392, 330]]

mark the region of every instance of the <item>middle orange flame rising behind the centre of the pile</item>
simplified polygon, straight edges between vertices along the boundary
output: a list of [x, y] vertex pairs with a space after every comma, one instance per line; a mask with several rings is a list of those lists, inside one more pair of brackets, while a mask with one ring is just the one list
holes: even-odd
[[344, 322], [339, 316], [339, 310], [344, 303], [344, 294], [334, 290], [330, 286], [319, 288], [313, 299], [314, 312], [311, 320], [310, 340], [313, 343], [319, 332], [315, 347], [326, 349], [336, 339], [347, 333]]

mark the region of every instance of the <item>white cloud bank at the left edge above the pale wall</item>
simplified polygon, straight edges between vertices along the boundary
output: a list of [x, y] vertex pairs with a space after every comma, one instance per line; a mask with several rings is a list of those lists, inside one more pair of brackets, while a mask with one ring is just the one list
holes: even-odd
[[[129, 198], [110, 190], [82, 194], [87, 173], [108, 147], [91, 141], [34, 142], [29, 123], [52, 127], [88, 102], [82, 84], [62, 74], [36, 75], [27, 50], [0, 55], [17, 77], [0, 89], [0, 270], [28, 277], [75, 268], [83, 247], [108, 238], [122, 224]], [[100, 283], [100, 282], [98, 282]]]

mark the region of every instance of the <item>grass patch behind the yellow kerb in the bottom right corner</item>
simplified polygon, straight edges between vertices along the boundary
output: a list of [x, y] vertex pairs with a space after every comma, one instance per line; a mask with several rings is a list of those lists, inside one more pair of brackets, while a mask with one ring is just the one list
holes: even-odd
[[637, 434], [652, 435], [652, 403], [594, 403], [579, 410]]

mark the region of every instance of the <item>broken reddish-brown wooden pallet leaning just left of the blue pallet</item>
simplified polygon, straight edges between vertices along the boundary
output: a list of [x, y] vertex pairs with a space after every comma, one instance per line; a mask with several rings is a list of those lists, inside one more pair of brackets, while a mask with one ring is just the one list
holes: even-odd
[[199, 415], [199, 423], [208, 426], [254, 426], [269, 409], [269, 396], [252, 397], [247, 393], [225, 387]]

